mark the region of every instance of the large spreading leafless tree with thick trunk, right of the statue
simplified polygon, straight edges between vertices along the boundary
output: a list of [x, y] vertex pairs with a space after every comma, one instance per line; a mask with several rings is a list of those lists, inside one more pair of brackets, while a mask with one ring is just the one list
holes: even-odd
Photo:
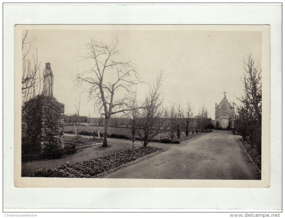
[[[86, 44], [87, 52], [83, 57], [91, 60], [93, 67], [77, 76], [78, 83], [86, 82], [89, 85], [89, 96], [93, 96], [95, 105], [99, 105], [99, 110], [104, 111], [102, 113], [105, 116], [103, 147], [108, 146], [107, 133], [110, 117], [115, 113], [132, 110], [126, 107], [128, 98], [115, 100], [115, 93], [118, 90], [131, 92], [132, 86], [140, 83], [134, 64], [131, 60], [122, 60], [117, 44], [118, 39], [107, 44], [92, 38]], [[106, 74], [109, 79], [104, 80]]]

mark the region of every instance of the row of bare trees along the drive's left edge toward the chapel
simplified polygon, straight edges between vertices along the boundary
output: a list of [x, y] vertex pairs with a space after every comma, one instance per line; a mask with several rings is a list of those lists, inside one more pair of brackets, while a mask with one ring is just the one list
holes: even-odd
[[[137, 107], [135, 101], [131, 105], [133, 108]], [[137, 139], [140, 139], [146, 146], [155, 136], [163, 132], [168, 133], [171, 140], [180, 139], [183, 132], [188, 137], [191, 132], [194, 135], [195, 132], [207, 130], [211, 125], [211, 118], [205, 108], [200, 110], [198, 116], [193, 116], [190, 104], [187, 104], [185, 111], [180, 104], [177, 107], [173, 104], [169, 111], [163, 107], [156, 110], [151, 104], [145, 106], [145, 108], [131, 110], [128, 113], [131, 129], [130, 139], [133, 145]]]

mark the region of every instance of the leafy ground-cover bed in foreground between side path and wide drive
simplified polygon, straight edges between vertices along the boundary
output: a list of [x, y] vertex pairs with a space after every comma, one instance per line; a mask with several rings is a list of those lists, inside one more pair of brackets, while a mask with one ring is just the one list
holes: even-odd
[[62, 177], [62, 178], [91, 178], [97, 174], [117, 168], [124, 164], [130, 163], [143, 156], [160, 151], [161, 148], [150, 146], [137, 147], [119, 152], [110, 153], [105, 156], [99, 156], [87, 159], [82, 162], [69, 164], [68, 162], [58, 168], [50, 168], [46, 171], [38, 170], [34, 177]]

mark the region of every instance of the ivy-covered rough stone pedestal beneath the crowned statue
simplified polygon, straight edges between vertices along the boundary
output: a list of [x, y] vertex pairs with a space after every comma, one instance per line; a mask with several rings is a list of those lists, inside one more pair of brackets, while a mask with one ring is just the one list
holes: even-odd
[[36, 96], [22, 110], [26, 123], [22, 155], [27, 159], [58, 158], [64, 153], [64, 105], [50, 96]]

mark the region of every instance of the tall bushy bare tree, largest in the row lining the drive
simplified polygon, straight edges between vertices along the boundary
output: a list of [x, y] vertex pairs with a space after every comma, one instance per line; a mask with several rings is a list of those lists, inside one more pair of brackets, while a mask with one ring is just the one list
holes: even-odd
[[147, 146], [155, 136], [163, 132], [163, 108], [162, 108], [162, 73], [151, 84], [148, 95], [145, 97], [143, 108], [140, 110], [138, 135], [143, 146]]

